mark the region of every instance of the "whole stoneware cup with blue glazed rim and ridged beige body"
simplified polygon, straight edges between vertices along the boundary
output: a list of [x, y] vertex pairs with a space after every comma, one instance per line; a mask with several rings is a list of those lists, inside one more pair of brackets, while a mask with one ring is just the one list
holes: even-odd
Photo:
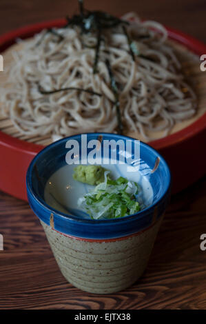
[[[106, 133], [91, 139], [123, 139]], [[72, 285], [96, 294], [119, 292], [144, 272], [169, 200], [170, 172], [162, 156], [140, 145], [140, 168], [152, 188], [152, 202], [138, 214], [119, 219], [92, 220], [64, 214], [45, 203], [44, 188], [50, 176], [66, 165], [65, 143], [71, 136], [49, 145], [34, 158], [27, 174], [28, 201], [39, 217], [59, 268]], [[81, 152], [80, 152], [81, 154]]]

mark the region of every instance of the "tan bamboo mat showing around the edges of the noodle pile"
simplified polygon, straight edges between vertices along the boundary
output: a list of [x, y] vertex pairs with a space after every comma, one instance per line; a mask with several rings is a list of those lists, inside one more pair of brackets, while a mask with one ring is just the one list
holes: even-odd
[[[176, 123], [174, 126], [172, 133], [178, 132], [178, 130], [182, 130], [183, 128], [187, 127], [188, 125], [194, 123], [200, 116], [206, 112], [206, 73], [200, 70], [200, 59], [197, 55], [193, 54], [185, 46], [180, 45], [178, 43], [174, 43], [174, 41], [169, 41], [172, 46], [176, 49], [176, 54], [180, 59], [183, 65], [183, 71], [186, 76], [186, 81], [192, 85], [192, 88], [196, 92], [198, 97], [198, 111], [195, 117], [188, 119], [187, 121], [183, 121], [181, 123]], [[4, 60], [4, 68], [8, 69], [10, 62], [12, 61], [12, 51], [19, 50], [21, 45], [14, 44], [8, 50], [3, 52], [3, 60]], [[0, 84], [3, 87], [3, 83], [6, 80], [6, 72], [0, 72]], [[0, 100], [1, 101], [1, 100]], [[17, 137], [23, 141], [28, 141], [32, 143], [37, 143], [41, 145], [48, 145], [52, 143], [52, 139], [50, 136], [25, 136], [19, 133], [19, 130], [14, 127], [12, 121], [10, 119], [3, 117], [1, 113], [1, 106], [0, 106], [0, 130], [1, 132], [5, 132], [11, 136]], [[81, 130], [79, 130], [81, 132]], [[141, 139], [145, 141], [145, 139], [137, 133], [128, 132], [127, 135], [132, 136], [136, 139]], [[152, 139], [158, 139], [163, 136], [163, 132], [150, 132], [148, 133]]]

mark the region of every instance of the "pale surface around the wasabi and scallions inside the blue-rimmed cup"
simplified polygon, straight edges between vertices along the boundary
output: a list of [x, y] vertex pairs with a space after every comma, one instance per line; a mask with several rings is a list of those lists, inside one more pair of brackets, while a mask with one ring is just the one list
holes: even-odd
[[[45, 185], [45, 203], [59, 212], [90, 219], [90, 216], [78, 207], [77, 202], [79, 198], [91, 190], [94, 190], [94, 186], [81, 183], [73, 178], [74, 168], [76, 168], [76, 166], [77, 165], [65, 165], [50, 176], [50, 179], [48, 179]], [[101, 164], [101, 166], [110, 170], [110, 174], [114, 180], [118, 179], [119, 176], [123, 176], [123, 178], [129, 181], [138, 183], [140, 189], [138, 190], [137, 200], [141, 204], [141, 209], [152, 204], [153, 190], [148, 180], [148, 174], [150, 172], [145, 172], [147, 168], [144, 168], [143, 172], [142, 170], [127, 172], [128, 165], [126, 164]]]

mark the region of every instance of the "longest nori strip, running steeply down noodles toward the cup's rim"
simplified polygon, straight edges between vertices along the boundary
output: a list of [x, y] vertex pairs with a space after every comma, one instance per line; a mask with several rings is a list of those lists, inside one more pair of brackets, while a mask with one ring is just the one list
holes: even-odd
[[117, 117], [117, 121], [118, 121], [119, 133], [123, 134], [123, 123], [122, 123], [122, 119], [121, 119], [121, 110], [120, 110], [120, 104], [119, 104], [119, 91], [116, 86], [116, 81], [114, 79], [110, 61], [108, 59], [106, 59], [105, 63], [107, 65], [107, 70], [110, 75], [110, 84], [111, 84], [112, 92], [114, 93], [114, 97], [115, 97], [114, 105], [116, 107], [116, 117]]

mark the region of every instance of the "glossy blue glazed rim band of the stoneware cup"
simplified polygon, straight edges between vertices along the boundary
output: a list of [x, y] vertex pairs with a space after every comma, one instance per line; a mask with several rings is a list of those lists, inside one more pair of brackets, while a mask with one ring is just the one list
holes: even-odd
[[[169, 201], [170, 192], [171, 192], [171, 174], [169, 171], [169, 166], [167, 165], [167, 162], [159, 154], [154, 148], [152, 148], [150, 145], [141, 142], [141, 147], [145, 148], [146, 150], [150, 151], [152, 154], [154, 154], [156, 157], [160, 157], [161, 163], [163, 163], [165, 170], [167, 170], [167, 184], [165, 185], [165, 190], [161, 197], [157, 199], [152, 205], [149, 207], [146, 207], [145, 209], [141, 210], [140, 212], [136, 214], [132, 214], [130, 216], [124, 216], [123, 218], [117, 218], [117, 219], [100, 219], [100, 220], [94, 220], [94, 219], [81, 219], [78, 216], [68, 215], [64, 214], [63, 212], [59, 212], [58, 210], [55, 210], [54, 208], [50, 207], [41, 197], [39, 197], [32, 187], [32, 172], [34, 170], [34, 165], [37, 163], [37, 160], [39, 157], [41, 157], [41, 154], [49, 151], [51, 148], [57, 147], [59, 144], [68, 141], [68, 139], [76, 139], [79, 138], [79, 136], [86, 134], [87, 136], [96, 136], [97, 138], [101, 135], [107, 135], [111, 138], [115, 137], [118, 139], [123, 140], [132, 140], [135, 139], [129, 136], [124, 136], [120, 134], [111, 134], [107, 132], [98, 132], [98, 133], [81, 133], [76, 134], [73, 136], [68, 136], [63, 139], [60, 139], [59, 141], [55, 141], [54, 143], [46, 146], [41, 150], [32, 160], [32, 162], [29, 165], [28, 172], [26, 174], [26, 187], [28, 192], [28, 201], [30, 203], [30, 207], [34, 211], [34, 213], [47, 225], [50, 225], [50, 215], [52, 214], [54, 216], [54, 230], [57, 230], [58, 232], [62, 232], [63, 234], [67, 234], [69, 236], [74, 236], [77, 238], [82, 239], [113, 239], [115, 237], [120, 236], [128, 236], [130, 234], [134, 234], [136, 232], [140, 232], [142, 230], [145, 230], [147, 227], [150, 227], [153, 225], [153, 214], [154, 210], [157, 206], [161, 206], [160, 211], [158, 212], [156, 216], [156, 220], [165, 212], [165, 207], [167, 206], [167, 203]], [[39, 213], [41, 211], [41, 213]], [[42, 212], [45, 212], [45, 216], [43, 216]], [[144, 222], [143, 219], [146, 218], [148, 215], [150, 215], [150, 221]], [[70, 222], [70, 226], [65, 227], [64, 224]], [[130, 228], [125, 228], [125, 231], [122, 229], [116, 229], [111, 230], [110, 225], [114, 224], [121, 225], [122, 227], [124, 225], [127, 225], [130, 223]], [[134, 223], [132, 225], [132, 223]], [[103, 228], [101, 231], [98, 231], [98, 233], [94, 232], [94, 229], [90, 229], [87, 231], [79, 231], [77, 228], [74, 230], [75, 225], [94, 225], [94, 228], [97, 229], [98, 225], [103, 226], [105, 225], [105, 230], [108, 230], [108, 232], [104, 232]], [[56, 226], [55, 226], [56, 225]], [[135, 226], [136, 225], [136, 226]]]

